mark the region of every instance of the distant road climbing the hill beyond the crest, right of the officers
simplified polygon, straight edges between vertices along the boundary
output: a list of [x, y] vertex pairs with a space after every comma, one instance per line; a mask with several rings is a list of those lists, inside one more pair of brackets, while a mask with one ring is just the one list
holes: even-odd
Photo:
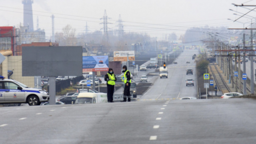
[[[160, 76], [157, 76], [154, 85], [140, 99], [197, 97], [195, 63], [192, 60], [193, 54], [198, 55], [198, 50], [184, 50], [175, 60], [177, 64], [167, 66], [168, 79], [160, 79]], [[192, 69], [193, 75], [186, 75], [186, 69]], [[186, 79], [194, 79], [195, 86], [186, 86]]]

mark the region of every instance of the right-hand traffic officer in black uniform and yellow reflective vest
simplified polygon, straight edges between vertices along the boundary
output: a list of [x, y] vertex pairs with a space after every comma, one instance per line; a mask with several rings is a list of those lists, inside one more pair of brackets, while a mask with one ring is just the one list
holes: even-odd
[[128, 102], [131, 102], [131, 93], [130, 93], [130, 86], [131, 86], [131, 73], [127, 70], [127, 66], [123, 66], [124, 73], [124, 82], [125, 82], [125, 89], [124, 89], [124, 100], [121, 102], [126, 102], [126, 97], [128, 97]]

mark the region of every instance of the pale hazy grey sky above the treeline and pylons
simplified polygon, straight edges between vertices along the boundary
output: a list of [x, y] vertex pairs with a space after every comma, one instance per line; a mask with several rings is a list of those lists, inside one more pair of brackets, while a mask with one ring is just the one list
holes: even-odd
[[[0, 2], [1, 26], [23, 23], [22, 0]], [[163, 34], [172, 32], [184, 34], [187, 28], [194, 26], [242, 28], [243, 24], [227, 20], [238, 18], [229, 9], [241, 13], [249, 10], [231, 3], [256, 5], [256, 0], [34, 0], [32, 7], [34, 29], [38, 17], [39, 28], [45, 30], [47, 39], [52, 35], [51, 14], [56, 17], [55, 32], [70, 24], [76, 28], [77, 33], [81, 33], [84, 32], [86, 22], [90, 32], [100, 30], [103, 27], [99, 24], [102, 22], [100, 18], [103, 17], [104, 10], [111, 18], [109, 23], [113, 23], [108, 25], [109, 28], [117, 29], [116, 21], [121, 14], [126, 32], [145, 32], [152, 37], [163, 37]], [[256, 17], [256, 11], [248, 15]], [[239, 21], [244, 23], [250, 20], [242, 18]]]

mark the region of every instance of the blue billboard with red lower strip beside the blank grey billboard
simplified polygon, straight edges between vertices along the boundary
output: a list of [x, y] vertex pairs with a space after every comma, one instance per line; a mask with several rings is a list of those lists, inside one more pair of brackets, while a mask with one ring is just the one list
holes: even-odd
[[108, 71], [108, 56], [83, 56], [83, 72]]

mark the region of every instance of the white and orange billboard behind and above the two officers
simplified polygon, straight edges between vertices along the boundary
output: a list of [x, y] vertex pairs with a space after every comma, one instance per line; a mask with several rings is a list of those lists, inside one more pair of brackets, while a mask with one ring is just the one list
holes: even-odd
[[127, 62], [127, 54], [129, 54], [129, 60], [135, 60], [134, 51], [114, 51], [114, 61]]

